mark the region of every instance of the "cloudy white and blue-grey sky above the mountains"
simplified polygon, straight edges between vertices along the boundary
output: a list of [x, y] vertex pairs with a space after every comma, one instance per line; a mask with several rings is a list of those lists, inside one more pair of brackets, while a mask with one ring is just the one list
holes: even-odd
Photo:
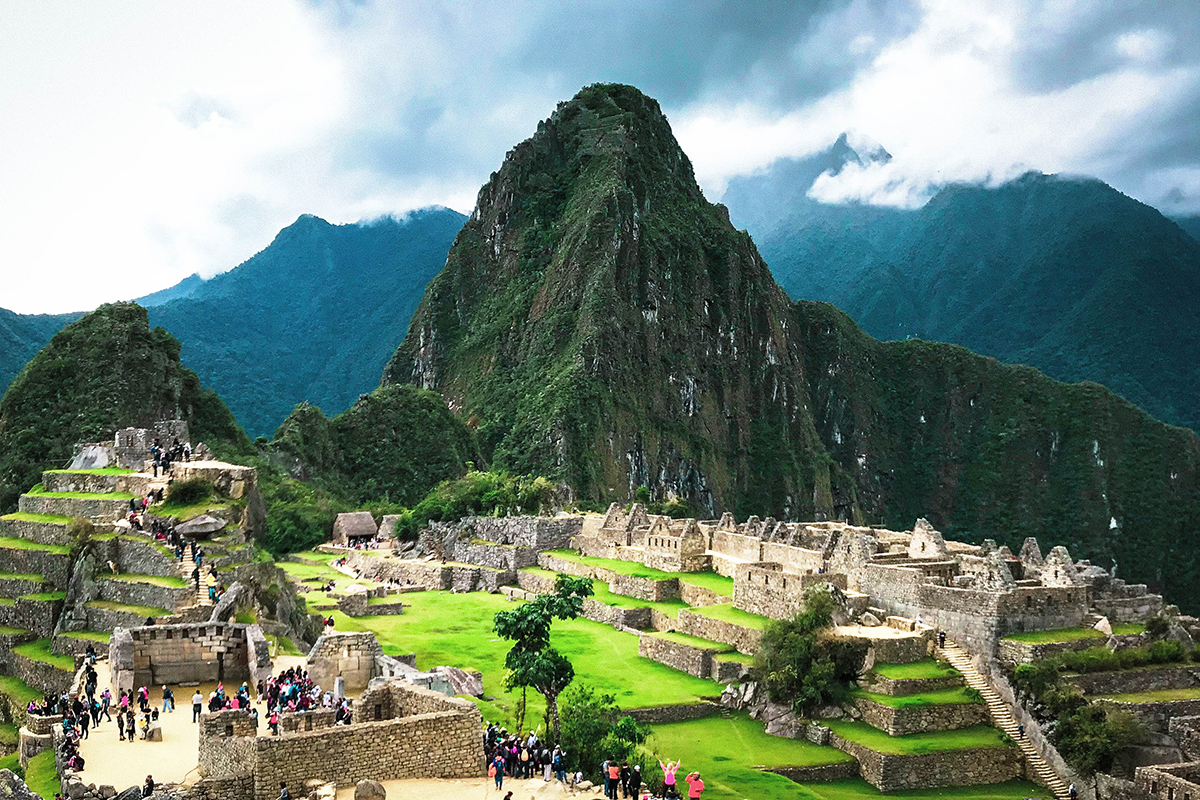
[[1094, 175], [1200, 213], [1195, 0], [8, 0], [0, 307], [83, 311], [232, 269], [301, 213], [469, 213], [595, 82], [654, 96], [719, 200], [844, 131], [824, 201]]

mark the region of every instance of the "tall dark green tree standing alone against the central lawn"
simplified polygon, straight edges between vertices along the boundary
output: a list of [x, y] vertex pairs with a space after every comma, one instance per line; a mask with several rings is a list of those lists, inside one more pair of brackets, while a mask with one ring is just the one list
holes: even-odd
[[554, 739], [559, 738], [558, 696], [575, 679], [570, 660], [550, 646], [550, 627], [556, 619], [575, 619], [583, 610], [583, 599], [593, 594], [590, 578], [559, 575], [554, 594], [540, 595], [512, 610], [496, 613], [493, 628], [500, 638], [512, 642], [504, 666], [509, 669], [505, 685], [532, 687], [546, 698], [546, 716]]

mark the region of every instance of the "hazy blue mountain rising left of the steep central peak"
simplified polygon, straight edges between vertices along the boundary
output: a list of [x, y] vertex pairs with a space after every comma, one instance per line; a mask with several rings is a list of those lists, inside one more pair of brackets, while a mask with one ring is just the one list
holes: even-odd
[[252, 437], [296, 403], [342, 411], [379, 383], [464, 217], [334, 225], [305, 215], [260, 253], [150, 308]]

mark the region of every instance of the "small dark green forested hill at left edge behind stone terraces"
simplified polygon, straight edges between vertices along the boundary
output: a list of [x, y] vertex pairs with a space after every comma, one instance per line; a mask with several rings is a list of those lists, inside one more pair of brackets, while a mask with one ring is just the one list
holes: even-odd
[[161, 419], [187, 420], [193, 441], [250, 445], [144, 308], [101, 306], [55, 333], [0, 399], [0, 509], [12, 510], [42, 470], [65, 467], [76, 443]]

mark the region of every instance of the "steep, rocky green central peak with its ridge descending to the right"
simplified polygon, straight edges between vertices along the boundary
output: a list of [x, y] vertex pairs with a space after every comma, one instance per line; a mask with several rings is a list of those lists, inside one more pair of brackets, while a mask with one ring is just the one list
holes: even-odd
[[708, 203], [658, 103], [594, 85], [510, 151], [385, 384], [583, 501], [1037, 535], [1200, 589], [1200, 439], [1092, 384], [792, 303]]

